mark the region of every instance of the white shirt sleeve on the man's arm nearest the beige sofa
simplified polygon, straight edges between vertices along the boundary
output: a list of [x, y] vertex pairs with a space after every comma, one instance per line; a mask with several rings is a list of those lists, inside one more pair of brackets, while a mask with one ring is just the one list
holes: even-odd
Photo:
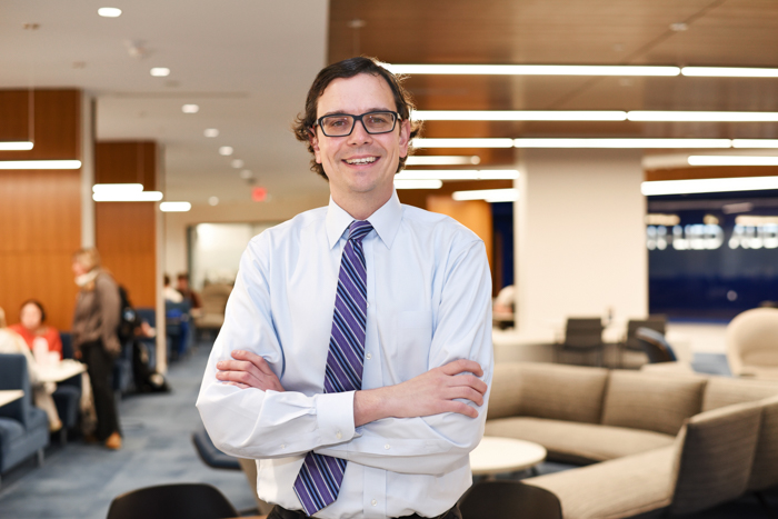
[[347, 443], [317, 449], [393, 472], [440, 475], [468, 463], [468, 453], [483, 436], [491, 389], [491, 273], [482, 241], [473, 242], [446, 269], [429, 369], [458, 359], [478, 362], [489, 390], [478, 418], [447, 412], [421, 418], [387, 418], [357, 429]]

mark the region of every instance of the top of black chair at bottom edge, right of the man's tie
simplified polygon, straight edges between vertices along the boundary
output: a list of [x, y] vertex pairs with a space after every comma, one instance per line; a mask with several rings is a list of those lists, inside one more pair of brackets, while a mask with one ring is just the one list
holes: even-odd
[[459, 501], [462, 519], [562, 519], [557, 496], [521, 481], [483, 481]]

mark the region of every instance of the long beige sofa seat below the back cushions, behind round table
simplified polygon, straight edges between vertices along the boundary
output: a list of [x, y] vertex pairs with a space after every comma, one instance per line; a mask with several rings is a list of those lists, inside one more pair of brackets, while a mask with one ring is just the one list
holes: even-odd
[[488, 420], [486, 435], [535, 441], [546, 447], [549, 460], [579, 465], [666, 447], [675, 440], [660, 432], [530, 417]]

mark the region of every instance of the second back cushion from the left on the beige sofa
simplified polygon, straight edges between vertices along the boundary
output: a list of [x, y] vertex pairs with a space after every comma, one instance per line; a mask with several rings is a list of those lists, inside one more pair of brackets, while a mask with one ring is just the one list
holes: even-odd
[[608, 380], [602, 423], [677, 435], [700, 410], [707, 379], [614, 370]]

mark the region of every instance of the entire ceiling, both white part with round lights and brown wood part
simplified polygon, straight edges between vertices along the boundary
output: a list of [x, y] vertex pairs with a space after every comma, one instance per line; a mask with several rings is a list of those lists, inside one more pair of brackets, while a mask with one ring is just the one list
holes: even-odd
[[[98, 17], [106, 6], [123, 14]], [[778, 1], [0, 0], [0, 88], [87, 90], [98, 139], [157, 140], [167, 198], [194, 204], [248, 200], [242, 169], [277, 200], [326, 193], [289, 128], [316, 72], [359, 53], [392, 63], [778, 67]], [[153, 78], [151, 67], [171, 74]], [[407, 84], [419, 109], [778, 111], [778, 79], [416, 76]], [[200, 111], [182, 113], [183, 103]], [[778, 123], [430, 121], [425, 133], [775, 139]], [[481, 166], [515, 161], [510, 149], [456, 153], [477, 153]], [[236, 158], [243, 168], [230, 166]]]

